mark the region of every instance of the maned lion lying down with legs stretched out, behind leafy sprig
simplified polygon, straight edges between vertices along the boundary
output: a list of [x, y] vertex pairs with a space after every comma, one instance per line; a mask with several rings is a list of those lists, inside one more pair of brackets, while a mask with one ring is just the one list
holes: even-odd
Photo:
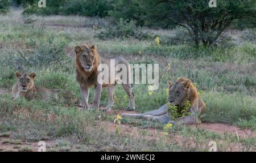
[[[191, 108], [189, 112], [191, 115], [196, 113], [203, 114], [206, 111], [206, 106], [204, 101], [200, 98], [200, 94], [197, 92], [196, 87], [192, 84], [191, 80], [187, 78], [180, 77], [178, 78], [174, 84], [169, 81], [168, 85], [169, 97], [168, 102], [171, 105], [178, 106], [179, 110], [185, 104], [185, 101], [189, 101], [191, 104]], [[191, 115], [187, 115], [185, 117], [180, 117], [176, 122], [172, 121], [171, 117], [168, 115], [169, 113], [168, 105], [165, 104], [158, 110], [148, 111], [146, 113], [140, 114], [128, 114], [123, 113], [123, 117], [132, 117], [132, 118], [146, 118], [146, 119], [154, 119], [158, 120], [161, 123], [177, 123], [177, 124], [197, 124], [197, 118], [193, 118]]]

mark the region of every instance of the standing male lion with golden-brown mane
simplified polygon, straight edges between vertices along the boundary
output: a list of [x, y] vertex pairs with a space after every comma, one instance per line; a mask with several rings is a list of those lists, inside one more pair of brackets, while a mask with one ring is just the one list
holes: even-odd
[[[127, 110], [134, 110], [134, 93], [129, 82], [124, 82], [122, 79], [118, 79], [116, 74], [120, 71], [111, 70], [110, 60], [113, 59], [115, 65], [125, 65], [127, 70], [127, 79], [130, 75], [130, 66], [125, 58], [122, 57], [111, 57], [111, 58], [101, 58], [97, 53], [97, 48], [95, 45], [90, 46], [88, 44], [82, 46], [76, 46], [76, 80], [80, 84], [80, 91], [82, 96], [81, 106], [84, 109], [89, 109], [88, 97], [89, 88], [95, 87], [94, 100], [92, 108], [98, 109], [100, 107], [100, 98], [102, 88], [108, 88], [109, 103], [104, 109], [105, 111], [111, 111], [114, 105], [114, 90], [118, 81], [122, 82], [122, 86], [125, 89], [127, 95], [129, 96], [129, 108]], [[98, 75], [102, 70], [98, 70], [98, 66], [101, 64], [107, 65], [109, 67], [109, 81], [112, 81], [110, 77], [114, 75], [114, 83], [104, 83], [103, 79], [99, 78]], [[115, 68], [115, 67], [114, 67]], [[113, 69], [113, 68], [112, 68]], [[99, 81], [98, 81], [99, 80]]]

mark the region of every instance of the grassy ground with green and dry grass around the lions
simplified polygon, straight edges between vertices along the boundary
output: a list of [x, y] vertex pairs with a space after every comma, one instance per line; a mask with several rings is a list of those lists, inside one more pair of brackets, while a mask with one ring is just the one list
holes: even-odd
[[[35, 71], [36, 85], [71, 90], [81, 98], [75, 80], [73, 48], [92, 42], [97, 45], [101, 56], [122, 55], [130, 63], [159, 64], [160, 85], [157, 91], [150, 95], [148, 85], [134, 86], [137, 111], [154, 110], [165, 104], [168, 80], [187, 76], [201, 91], [207, 104], [205, 122], [224, 122], [255, 129], [256, 46], [255, 40], [245, 37], [248, 31], [233, 32], [231, 45], [230, 42], [222, 42], [217, 47], [195, 49], [188, 42], [167, 44], [168, 40], [174, 39], [175, 33], [182, 32], [179, 29], [143, 29], [159, 36], [160, 46], [155, 45], [154, 38], [102, 41], [96, 37], [98, 31], [93, 25], [107, 22], [108, 19], [78, 16], [25, 18], [19, 10], [0, 15], [0, 88], [11, 89], [17, 70]], [[255, 30], [249, 31], [255, 38]], [[171, 70], [166, 68], [168, 63]], [[89, 102], [92, 102], [92, 97], [90, 95]], [[52, 102], [10, 99], [7, 93], [0, 95], [0, 133], [9, 133], [9, 139], [22, 142], [54, 139], [56, 142], [50, 147], [53, 151], [207, 151], [210, 140], [222, 142], [221, 151], [230, 150], [232, 143], [234, 147], [241, 145], [238, 151], [255, 148], [255, 138], [251, 136], [237, 140], [229, 134], [220, 135], [187, 126], [174, 127], [171, 134], [158, 135], [158, 139], [149, 139], [147, 133], [139, 136], [117, 135], [101, 126], [102, 121], [113, 121], [113, 114], [106, 115], [96, 110], [80, 111], [75, 106], [67, 108]], [[107, 103], [104, 91], [101, 105], [106, 106]], [[127, 95], [118, 85], [114, 110], [127, 106]], [[162, 132], [163, 128], [159, 124], [134, 119], [123, 119], [122, 123], [141, 128], [157, 126], [157, 132]], [[178, 135], [183, 137], [184, 142], [177, 143], [176, 139], [172, 139], [172, 136]], [[189, 141], [195, 142], [195, 146], [188, 145]]]

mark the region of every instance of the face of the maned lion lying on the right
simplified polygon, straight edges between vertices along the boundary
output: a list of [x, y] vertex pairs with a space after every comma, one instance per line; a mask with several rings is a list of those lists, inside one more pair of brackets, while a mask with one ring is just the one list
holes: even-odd
[[[179, 80], [179, 79], [178, 79]], [[169, 97], [168, 101], [172, 105], [183, 105], [184, 101], [187, 98], [187, 90], [189, 88], [188, 81], [175, 81], [174, 84], [169, 81]]]

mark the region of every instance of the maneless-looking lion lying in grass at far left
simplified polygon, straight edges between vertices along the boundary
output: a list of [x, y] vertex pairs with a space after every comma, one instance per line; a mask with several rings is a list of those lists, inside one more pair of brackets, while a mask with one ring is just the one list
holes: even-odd
[[71, 91], [64, 91], [60, 89], [47, 89], [34, 85], [35, 72], [28, 73], [15, 72], [18, 81], [13, 85], [12, 95], [13, 99], [26, 98], [27, 100], [63, 100], [63, 104], [78, 104], [78, 98]]

